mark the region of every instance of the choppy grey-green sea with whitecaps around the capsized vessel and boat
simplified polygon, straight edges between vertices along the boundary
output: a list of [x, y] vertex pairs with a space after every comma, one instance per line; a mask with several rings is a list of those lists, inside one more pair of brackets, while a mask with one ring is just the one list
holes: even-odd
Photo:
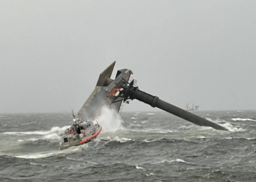
[[70, 113], [0, 114], [0, 181], [256, 181], [256, 111], [123, 112], [97, 139], [60, 150]]

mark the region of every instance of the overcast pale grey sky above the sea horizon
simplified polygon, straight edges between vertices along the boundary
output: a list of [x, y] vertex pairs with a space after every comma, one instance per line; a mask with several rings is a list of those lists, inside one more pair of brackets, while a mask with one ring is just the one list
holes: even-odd
[[[0, 113], [81, 108], [113, 61], [185, 108], [256, 109], [256, 1], [0, 0]], [[134, 100], [124, 111], [152, 110]], [[156, 109], [157, 110], [157, 109]]]

